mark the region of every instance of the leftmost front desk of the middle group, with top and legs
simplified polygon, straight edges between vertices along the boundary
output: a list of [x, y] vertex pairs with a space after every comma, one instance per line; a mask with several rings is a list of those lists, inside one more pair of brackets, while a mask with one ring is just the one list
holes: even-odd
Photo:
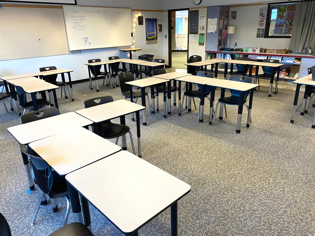
[[[142, 80], [135, 80], [126, 82], [126, 84], [130, 85], [130, 101], [133, 102], [133, 95], [132, 95], [132, 86], [140, 87], [141, 89], [141, 103], [142, 106], [146, 107], [146, 87], [151, 88], [151, 113], [155, 113], [155, 107], [154, 107], [154, 85], [163, 83], [164, 86], [164, 93], [163, 93], [163, 102], [164, 102], [164, 118], [166, 118], [166, 104], [165, 104], [165, 95], [166, 95], [166, 88], [165, 88], [165, 82], [169, 82], [169, 80], [164, 80], [160, 78], [155, 77], [148, 77]], [[142, 110], [142, 116], [143, 116], [143, 125], [146, 125], [146, 109]]]

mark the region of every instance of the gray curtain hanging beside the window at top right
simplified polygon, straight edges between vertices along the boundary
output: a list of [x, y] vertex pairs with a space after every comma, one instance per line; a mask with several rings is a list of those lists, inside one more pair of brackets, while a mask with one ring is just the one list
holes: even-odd
[[299, 2], [296, 5], [292, 27], [290, 50], [295, 53], [305, 52], [312, 47], [315, 52], [315, 2]]

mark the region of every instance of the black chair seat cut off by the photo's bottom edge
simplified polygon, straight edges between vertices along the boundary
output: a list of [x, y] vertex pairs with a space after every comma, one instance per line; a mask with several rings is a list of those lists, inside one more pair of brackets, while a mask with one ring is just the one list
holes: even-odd
[[56, 230], [49, 236], [93, 236], [93, 234], [85, 225], [74, 222]]

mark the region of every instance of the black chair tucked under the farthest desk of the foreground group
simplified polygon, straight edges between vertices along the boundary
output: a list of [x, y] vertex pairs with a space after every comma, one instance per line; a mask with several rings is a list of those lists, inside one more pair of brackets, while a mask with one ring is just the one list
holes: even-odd
[[[106, 103], [110, 103], [113, 101], [114, 100], [113, 100], [112, 96], [92, 98], [92, 99], [84, 101], [84, 108], [94, 107], [97, 105], [106, 104]], [[130, 132], [129, 126], [121, 125], [121, 124], [115, 124], [115, 123], [112, 123], [110, 120], [103, 121], [102, 125], [103, 125], [103, 134], [104, 134], [103, 138], [106, 138], [106, 139], [116, 138], [116, 145], [118, 143], [119, 137], [125, 135], [126, 133], [129, 133], [132, 152], [135, 155], [135, 146], [134, 146], [134, 142], [132, 139], [132, 134]], [[93, 128], [93, 132], [97, 133], [97, 128], [94, 124], [92, 125], [92, 128]]]

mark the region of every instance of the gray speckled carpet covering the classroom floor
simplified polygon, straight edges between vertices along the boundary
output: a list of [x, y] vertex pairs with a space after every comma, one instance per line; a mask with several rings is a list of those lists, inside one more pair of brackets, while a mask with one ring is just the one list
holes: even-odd
[[[82, 109], [83, 101], [93, 97], [123, 98], [120, 88], [100, 85], [96, 93], [88, 87], [88, 82], [73, 85], [74, 102], [59, 97], [60, 112]], [[142, 158], [191, 185], [191, 192], [178, 204], [180, 236], [315, 235], [315, 130], [311, 129], [315, 109], [310, 107], [304, 116], [298, 112], [290, 124], [294, 91], [279, 89], [268, 98], [267, 89], [254, 93], [253, 123], [246, 128], [244, 111], [240, 134], [235, 133], [237, 106], [227, 106], [228, 117], [209, 126], [207, 99], [203, 123], [198, 122], [198, 110], [183, 110], [179, 117], [177, 107], [172, 107], [166, 119], [161, 109], [147, 115], [147, 126], [141, 125]], [[219, 95], [217, 89], [216, 101]], [[19, 118], [6, 114], [0, 104], [0, 121], [0, 212], [13, 236], [49, 235], [62, 226], [66, 202], [58, 200], [57, 213], [50, 201], [41, 206], [36, 224], [30, 226], [38, 195], [26, 193], [18, 143], [7, 132]], [[126, 124], [135, 137], [135, 122], [126, 117]], [[128, 138], [127, 142], [130, 151]], [[94, 235], [123, 235], [92, 206], [90, 211]], [[73, 222], [72, 212], [68, 222]], [[169, 209], [141, 228], [139, 235], [170, 235]]]

